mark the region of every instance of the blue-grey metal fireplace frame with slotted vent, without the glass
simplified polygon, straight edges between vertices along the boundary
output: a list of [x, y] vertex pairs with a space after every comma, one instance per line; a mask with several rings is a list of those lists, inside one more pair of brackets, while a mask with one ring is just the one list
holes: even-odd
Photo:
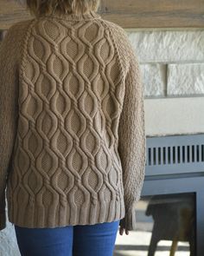
[[204, 252], [204, 134], [147, 137], [141, 196], [194, 193], [195, 255]]

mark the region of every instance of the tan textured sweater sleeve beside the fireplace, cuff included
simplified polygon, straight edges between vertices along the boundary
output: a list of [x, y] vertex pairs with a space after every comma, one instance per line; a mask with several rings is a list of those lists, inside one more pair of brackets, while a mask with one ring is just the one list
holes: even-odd
[[[126, 56], [128, 68], [125, 73], [124, 104], [118, 124], [118, 153], [123, 168], [125, 216], [120, 226], [128, 230], [136, 228], [135, 207], [143, 187], [146, 137], [143, 108], [143, 82], [137, 56], [124, 32], [122, 57]], [[119, 43], [118, 40], [118, 43]]]

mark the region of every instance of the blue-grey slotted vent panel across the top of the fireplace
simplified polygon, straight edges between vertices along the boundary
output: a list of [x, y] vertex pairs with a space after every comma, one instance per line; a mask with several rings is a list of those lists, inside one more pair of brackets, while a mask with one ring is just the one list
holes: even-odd
[[174, 169], [177, 173], [181, 168], [182, 172], [190, 169], [204, 172], [204, 135], [147, 137], [146, 150], [148, 172], [163, 170], [166, 174]]

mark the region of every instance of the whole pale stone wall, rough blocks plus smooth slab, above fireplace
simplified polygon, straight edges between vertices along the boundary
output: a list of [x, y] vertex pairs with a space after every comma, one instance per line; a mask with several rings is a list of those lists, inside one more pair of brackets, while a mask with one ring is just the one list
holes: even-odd
[[147, 136], [204, 133], [204, 30], [127, 30], [143, 76]]

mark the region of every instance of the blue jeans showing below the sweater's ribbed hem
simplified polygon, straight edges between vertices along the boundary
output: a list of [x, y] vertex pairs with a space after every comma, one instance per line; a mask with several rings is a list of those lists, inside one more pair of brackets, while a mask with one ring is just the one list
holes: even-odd
[[112, 256], [118, 225], [119, 220], [54, 228], [14, 226], [22, 256]]

